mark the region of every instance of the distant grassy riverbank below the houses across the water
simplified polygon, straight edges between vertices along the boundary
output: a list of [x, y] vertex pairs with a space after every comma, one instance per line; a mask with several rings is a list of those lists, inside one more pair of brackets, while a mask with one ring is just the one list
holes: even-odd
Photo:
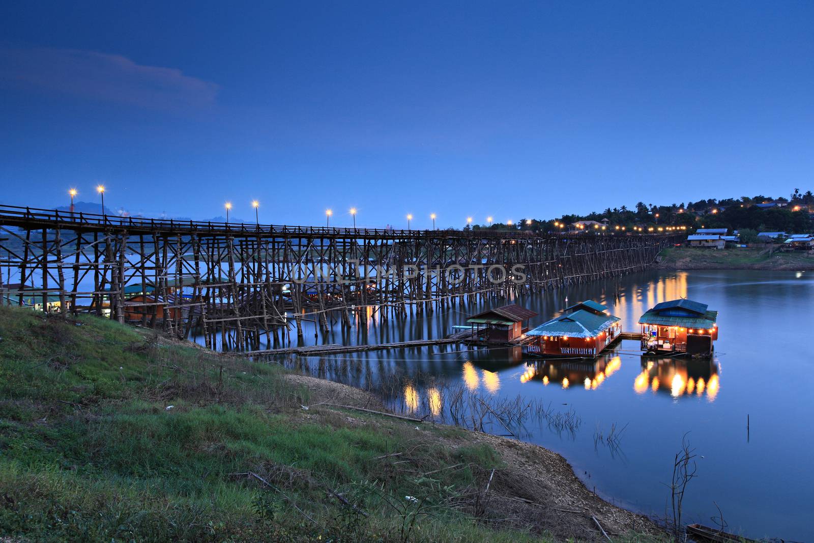
[[659, 253], [659, 269], [786, 269], [814, 270], [814, 256], [806, 252], [770, 252], [763, 248], [668, 247]]

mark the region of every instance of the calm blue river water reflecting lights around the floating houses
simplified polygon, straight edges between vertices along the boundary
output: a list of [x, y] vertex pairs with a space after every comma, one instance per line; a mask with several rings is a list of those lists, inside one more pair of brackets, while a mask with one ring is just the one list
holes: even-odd
[[[678, 297], [719, 312], [711, 361], [642, 359], [638, 342], [623, 340], [595, 362], [533, 361], [506, 348], [444, 346], [287, 363], [361, 388], [387, 385], [392, 406], [407, 411], [437, 413], [440, 388], [457, 386], [493, 401], [520, 395], [570, 413], [579, 419], [576, 427], [527, 423], [522, 438], [562, 453], [608, 501], [648, 515], [665, 515], [666, 484], [686, 436], [698, 471], [685, 493], [685, 521], [714, 526], [711, 517], [720, 507], [730, 532], [814, 540], [812, 273], [650, 271], [420, 317], [382, 322], [371, 311], [350, 332], [336, 326], [319, 339], [307, 331], [306, 339], [355, 344], [438, 338], [465, 324], [467, 314], [507, 301], [540, 313], [532, 319], [536, 326], [585, 299], [610, 306], [624, 331], [637, 331], [641, 313]], [[598, 440], [614, 426], [621, 431], [615, 444]]]

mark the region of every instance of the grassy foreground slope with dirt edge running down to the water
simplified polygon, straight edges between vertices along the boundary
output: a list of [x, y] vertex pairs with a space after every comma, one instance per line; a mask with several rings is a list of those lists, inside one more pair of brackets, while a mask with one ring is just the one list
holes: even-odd
[[0, 308], [19, 541], [656, 541], [532, 444], [96, 317]]

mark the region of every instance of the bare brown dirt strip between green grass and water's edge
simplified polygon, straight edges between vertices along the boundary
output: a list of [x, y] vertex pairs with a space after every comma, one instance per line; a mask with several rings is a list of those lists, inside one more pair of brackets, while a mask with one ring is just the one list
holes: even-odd
[[[291, 379], [307, 384], [313, 390], [324, 391], [317, 392], [317, 396], [344, 398], [342, 401], [348, 401], [347, 405], [367, 406], [375, 401], [368, 392], [339, 383], [303, 376]], [[338, 410], [341, 409], [320, 405], [309, 409], [309, 417], [337, 426]], [[484, 483], [490, 478], [491, 483], [488, 483], [488, 491], [481, 490], [484, 493], [481, 515], [505, 528], [550, 532], [557, 541], [606, 541], [597, 528], [598, 521], [611, 536], [630, 532], [655, 537], [663, 535], [663, 530], [646, 516], [614, 506], [585, 488], [566, 459], [548, 449], [441, 424], [410, 423], [365, 412], [341, 411], [346, 416], [340, 425], [372, 427], [385, 433], [393, 425], [414, 427], [411, 448], [394, 453], [392, 460], [396, 463], [393, 469], [398, 466], [406, 469], [411, 457], [438, 444], [450, 450], [488, 445], [497, 453], [502, 466], [493, 475], [491, 472], [482, 474]]]

